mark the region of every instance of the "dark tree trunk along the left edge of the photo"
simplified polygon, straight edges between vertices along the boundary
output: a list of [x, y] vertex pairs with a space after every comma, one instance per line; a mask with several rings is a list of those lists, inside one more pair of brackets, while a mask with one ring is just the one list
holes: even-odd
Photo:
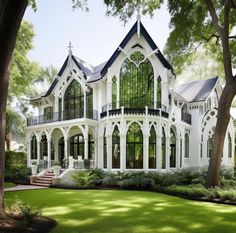
[[5, 127], [6, 102], [9, 70], [19, 30], [28, 0], [0, 0], [0, 217], [4, 211], [4, 168], [5, 168]]

